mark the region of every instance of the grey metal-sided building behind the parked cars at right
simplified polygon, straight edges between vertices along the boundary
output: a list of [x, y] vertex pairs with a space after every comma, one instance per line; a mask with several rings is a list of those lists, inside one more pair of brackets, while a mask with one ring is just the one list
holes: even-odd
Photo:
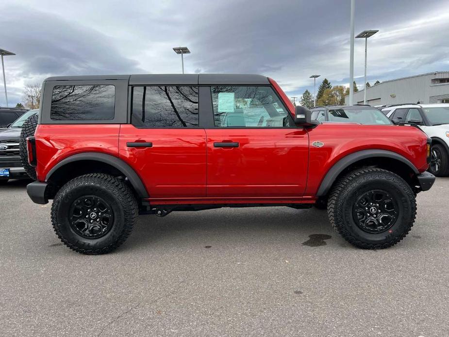
[[[349, 96], [345, 97], [349, 104]], [[400, 103], [449, 103], [449, 71], [403, 77], [366, 88], [369, 105]], [[363, 89], [354, 93], [354, 104], [363, 104]]]

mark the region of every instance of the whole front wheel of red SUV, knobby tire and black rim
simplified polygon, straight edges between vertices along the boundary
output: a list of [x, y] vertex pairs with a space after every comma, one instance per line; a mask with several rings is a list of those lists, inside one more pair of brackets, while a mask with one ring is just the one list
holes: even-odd
[[415, 194], [397, 174], [358, 169], [340, 178], [328, 202], [334, 229], [352, 245], [381, 249], [397, 244], [416, 217]]

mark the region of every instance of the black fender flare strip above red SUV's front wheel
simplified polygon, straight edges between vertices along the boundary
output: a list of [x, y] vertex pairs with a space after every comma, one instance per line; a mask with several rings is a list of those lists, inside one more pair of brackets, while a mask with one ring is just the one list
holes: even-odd
[[325, 196], [329, 190], [331, 189], [335, 179], [337, 179], [338, 175], [349, 165], [358, 162], [359, 160], [373, 157], [383, 157], [383, 158], [392, 158], [399, 160], [400, 162], [406, 164], [413, 170], [415, 174], [419, 174], [418, 169], [416, 169], [415, 165], [412, 164], [410, 160], [400, 155], [399, 153], [387, 151], [387, 150], [362, 150], [348, 154], [347, 156], [341, 158], [337, 161], [331, 169], [326, 173], [324, 179], [319, 185], [318, 192], [316, 196], [322, 197]]

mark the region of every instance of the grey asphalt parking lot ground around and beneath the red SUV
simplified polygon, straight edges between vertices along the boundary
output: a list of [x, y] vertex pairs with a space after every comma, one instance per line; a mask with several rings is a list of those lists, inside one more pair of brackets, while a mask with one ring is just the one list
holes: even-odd
[[449, 178], [378, 251], [276, 207], [142, 216], [114, 253], [81, 255], [25, 186], [0, 186], [1, 336], [449, 336]]

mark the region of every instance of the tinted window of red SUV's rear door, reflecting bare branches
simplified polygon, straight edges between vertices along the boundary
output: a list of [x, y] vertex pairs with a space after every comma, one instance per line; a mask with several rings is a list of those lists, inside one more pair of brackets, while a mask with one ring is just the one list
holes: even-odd
[[198, 86], [134, 86], [131, 123], [146, 128], [198, 126]]

